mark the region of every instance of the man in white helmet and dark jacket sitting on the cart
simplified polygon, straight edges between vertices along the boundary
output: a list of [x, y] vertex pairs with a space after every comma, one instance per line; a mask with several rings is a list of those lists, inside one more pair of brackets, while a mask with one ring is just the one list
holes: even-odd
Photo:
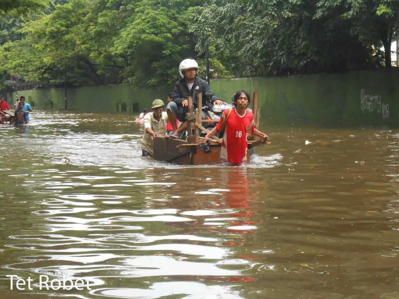
[[[178, 134], [187, 128], [186, 113], [188, 112], [188, 97], [193, 99], [194, 109], [198, 107], [198, 94], [202, 93], [202, 106], [223, 104], [212, 90], [208, 83], [197, 77], [198, 64], [194, 59], [184, 59], [179, 65], [180, 79], [175, 83], [173, 92], [173, 102], [166, 106], [168, 118], [172, 124], [173, 133], [168, 135], [170, 138], [178, 138]], [[184, 124], [178, 129], [176, 118]]]

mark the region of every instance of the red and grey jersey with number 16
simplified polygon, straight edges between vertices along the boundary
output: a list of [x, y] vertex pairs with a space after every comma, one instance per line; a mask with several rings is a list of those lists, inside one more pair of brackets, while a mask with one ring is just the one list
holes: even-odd
[[[220, 122], [217, 124], [218, 131], [222, 129], [223, 119], [227, 117], [229, 111], [230, 109], [223, 111]], [[229, 118], [227, 118], [220, 149], [220, 159], [234, 164], [241, 164], [243, 161], [247, 161], [247, 133], [253, 134], [254, 131], [255, 124], [252, 112], [245, 110], [245, 114], [240, 116], [237, 110], [233, 108]]]

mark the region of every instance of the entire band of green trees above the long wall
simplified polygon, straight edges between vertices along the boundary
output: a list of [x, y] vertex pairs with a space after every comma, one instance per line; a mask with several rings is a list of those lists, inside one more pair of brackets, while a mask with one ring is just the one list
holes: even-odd
[[211, 78], [389, 67], [379, 48], [399, 0], [6, 0], [6, 12], [0, 73], [142, 87], [172, 84], [185, 58], [205, 77], [207, 47]]

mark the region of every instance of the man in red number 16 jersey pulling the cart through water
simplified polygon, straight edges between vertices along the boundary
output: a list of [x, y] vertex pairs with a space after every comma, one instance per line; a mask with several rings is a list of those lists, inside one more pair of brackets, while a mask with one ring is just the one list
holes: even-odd
[[[247, 110], [251, 98], [245, 90], [235, 93], [233, 99], [234, 109], [224, 110], [220, 122], [215, 128], [206, 134], [204, 143], [210, 140], [217, 132], [225, 126], [223, 142], [220, 149], [220, 161], [229, 162], [231, 165], [240, 165], [247, 161], [247, 133], [261, 138], [267, 137], [265, 133], [255, 128], [252, 112]], [[226, 119], [226, 120], [225, 120]]]

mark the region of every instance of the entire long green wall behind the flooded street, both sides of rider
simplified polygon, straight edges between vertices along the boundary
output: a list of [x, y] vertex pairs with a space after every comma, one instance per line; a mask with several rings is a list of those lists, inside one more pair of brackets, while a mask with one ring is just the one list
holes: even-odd
[[[82, 111], [139, 112], [150, 108], [156, 98], [166, 103], [170, 89], [172, 86], [140, 90], [128, 85], [71, 88], [67, 89], [67, 106]], [[258, 90], [263, 120], [399, 126], [399, 69], [213, 80], [211, 89], [226, 102], [231, 102], [231, 95], [239, 89], [251, 95]], [[21, 95], [34, 107], [64, 107], [62, 88], [18, 92]], [[10, 96], [14, 100], [16, 93]]]

